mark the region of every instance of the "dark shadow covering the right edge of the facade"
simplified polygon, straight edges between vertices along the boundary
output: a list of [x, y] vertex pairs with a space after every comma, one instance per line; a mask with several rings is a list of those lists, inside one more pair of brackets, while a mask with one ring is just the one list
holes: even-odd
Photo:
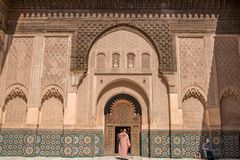
[[206, 109], [215, 157], [240, 158], [239, 17], [231, 16], [239, 15], [240, 3], [227, 1], [227, 6], [232, 10], [219, 13], [213, 38]]

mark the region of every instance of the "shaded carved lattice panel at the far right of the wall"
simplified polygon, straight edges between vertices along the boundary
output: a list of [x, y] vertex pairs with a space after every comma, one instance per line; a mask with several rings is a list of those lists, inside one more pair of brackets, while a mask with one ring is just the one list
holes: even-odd
[[[217, 65], [218, 89], [240, 86], [240, 55], [238, 37], [216, 37], [214, 51]], [[219, 95], [221, 96], [221, 95]]]

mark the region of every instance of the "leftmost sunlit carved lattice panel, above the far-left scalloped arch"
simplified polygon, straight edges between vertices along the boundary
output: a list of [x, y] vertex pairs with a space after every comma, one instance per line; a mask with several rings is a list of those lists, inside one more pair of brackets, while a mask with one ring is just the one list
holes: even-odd
[[6, 87], [20, 83], [28, 88], [31, 75], [34, 38], [14, 37], [8, 53]]

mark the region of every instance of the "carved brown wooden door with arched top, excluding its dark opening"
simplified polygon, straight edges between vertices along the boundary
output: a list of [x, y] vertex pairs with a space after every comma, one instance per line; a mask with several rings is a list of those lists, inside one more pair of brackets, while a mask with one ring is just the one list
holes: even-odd
[[141, 116], [127, 99], [117, 99], [105, 115], [105, 155], [115, 154], [115, 128], [129, 126], [131, 130], [131, 155], [140, 155]]

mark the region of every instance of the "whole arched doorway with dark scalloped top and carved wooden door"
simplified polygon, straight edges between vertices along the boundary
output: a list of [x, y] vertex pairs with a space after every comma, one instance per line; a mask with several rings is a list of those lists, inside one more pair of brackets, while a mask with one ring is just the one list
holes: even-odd
[[127, 129], [131, 141], [129, 153], [140, 155], [141, 151], [141, 115], [142, 110], [138, 101], [127, 94], [112, 97], [104, 109], [105, 115], [105, 155], [118, 152], [117, 135], [122, 129]]

